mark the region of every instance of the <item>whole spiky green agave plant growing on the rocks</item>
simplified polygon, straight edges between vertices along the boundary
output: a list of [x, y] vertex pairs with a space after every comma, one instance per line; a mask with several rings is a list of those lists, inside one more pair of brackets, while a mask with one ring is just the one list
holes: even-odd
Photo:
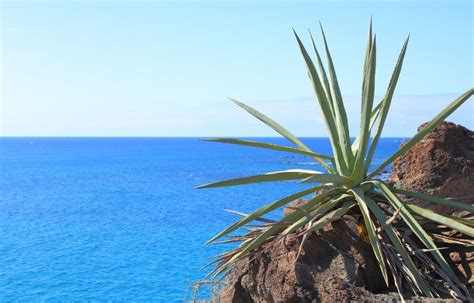
[[[306, 63], [322, 119], [327, 128], [332, 155], [323, 155], [312, 151], [269, 117], [233, 99], [232, 101], [238, 106], [271, 127], [295, 146], [289, 147], [239, 139], [205, 139], [308, 156], [319, 162], [325, 170], [273, 171], [199, 186], [198, 188], [213, 188], [287, 180], [301, 180], [300, 183], [310, 186], [291, 196], [267, 204], [250, 214], [241, 214], [243, 217], [239, 221], [209, 240], [208, 243], [216, 243], [218, 239], [228, 236], [227, 240], [217, 243], [239, 242], [238, 247], [219, 255], [214, 260], [213, 264], [216, 266], [212, 275], [214, 277], [222, 276], [232, 268], [235, 262], [254, 253], [263, 244], [279, 241], [291, 233], [301, 235], [304, 241], [309, 233], [321, 230], [331, 222], [359, 218], [360, 222], [363, 222], [362, 226], [365, 228], [367, 242], [373, 249], [387, 286], [394, 285], [402, 299], [406, 288], [411, 290], [415, 296], [437, 297], [448, 294], [462, 300], [470, 299], [465, 285], [460, 282], [440, 251], [442, 247], [436, 243], [442, 243], [442, 241], [438, 241], [441, 238], [440, 229], [449, 228], [467, 237], [459, 243], [474, 245], [472, 240], [474, 237], [474, 220], [472, 220], [474, 207], [451, 199], [441, 199], [397, 189], [381, 180], [378, 175], [466, 102], [473, 95], [474, 89], [470, 88], [459, 96], [397, 152], [370, 171], [369, 168], [373, 162], [400, 75], [409, 37], [401, 49], [385, 96], [374, 106], [376, 38], [372, 34], [372, 24], [370, 24], [363, 69], [361, 123], [358, 136], [351, 141], [346, 110], [322, 27], [321, 33], [327, 59], [326, 66], [323, 64], [311, 32], [309, 35], [316, 56], [316, 64], [310, 58], [299, 36], [294, 32]], [[294, 208], [293, 212], [284, 215], [278, 221], [271, 221], [263, 217], [269, 212], [303, 197], [307, 197], [304, 204]], [[468, 213], [468, 218], [441, 215], [420, 208], [409, 203], [408, 199], [410, 198], [463, 210]], [[263, 223], [250, 225], [249, 223], [253, 221]], [[427, 229], [427, 223], [436, 227], [434, 231]], [[240, 228], [244, 228], [247, 232], [235, 235], [234, 232]]]

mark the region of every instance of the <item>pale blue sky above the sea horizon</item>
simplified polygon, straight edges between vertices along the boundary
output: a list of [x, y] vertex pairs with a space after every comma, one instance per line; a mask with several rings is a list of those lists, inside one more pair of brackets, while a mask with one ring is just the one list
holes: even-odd
[[[322, 22], [359, 125], [367, 28], [379, 100], [410, 43], [384, 136], [473, 86], [471, 1], [1, 1], [2, 136], [274, 136], [236, 98], [298, 136], [323, 137], [292, 33]], [[474, 128], [474, 98], [448, 120]]]

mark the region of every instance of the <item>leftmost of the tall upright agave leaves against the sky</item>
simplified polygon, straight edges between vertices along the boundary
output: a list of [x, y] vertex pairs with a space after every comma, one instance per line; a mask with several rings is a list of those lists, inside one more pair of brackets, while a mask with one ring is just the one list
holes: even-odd
[[335, 158], [335, 164], [336, 164], [336, 170], [337, 172], [346, 175], [348, 174], [348, 168], [345, 165], [344, 158], [342, 155], [342, 150], [341, 147], [339, 146], [339, 134], [337, 132], [337, 128], [335, 125], [334, 121], [334, 116], [331, 111], [331, 105], [329, 105], [329, 100], [326, 97], [326, 92], [324, 91], [324, 88], [321, 84], [321, 81], [319, 79], [318, 72], [316, 71], [316, 68], [314, 66], [313, 61], [311, 60], [308, 52], [306, 51], [303, 42], [301, 42], [300, 38], [296, 34], [295, 31], [293, 31], [296, 37], [296, 40], [298, 42], [298, 45], [300, 47], [301, 54], [303, 55], [303, 58], [306, 63], [306, 67], [308, 69], [308, 75], [311, 79], [311, 82], [313, 84], [314, 92], [316, 94], [318, 103], [319, 103], [319, 108], [321, 109], [322, 117], [324, 119], [324, 122], [326, 124], [326, 128], [329, 133], [329, 139], [331, 141], [331, 146], [332, 150], [334, 153], [334, 158]]

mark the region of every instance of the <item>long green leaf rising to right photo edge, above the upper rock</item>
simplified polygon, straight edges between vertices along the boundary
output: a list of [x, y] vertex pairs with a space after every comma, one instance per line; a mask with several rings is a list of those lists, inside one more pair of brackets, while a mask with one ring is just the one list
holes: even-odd
[[382, 164], [379, 165], [368, 177], [371, 178], [378, 173], [380, 173], [387, 165], [392, 163], [400, 155], [407, 152], [415, 144], [420, 142], [430, 131], [432, 131], [439, 123], [441, 123], [446, 117], [448, 117], [452, 112], [454, 112], [459, 106], [466, 102], [474, 94], [474, 88], [468, 89], [464, 94], [459, 96], [456, 100], [451, 102], [445, 109], [443, 109], [439, 114], [437, 114], [430, 122], [428, 122], [422, 130], [420, 130], [415, 136], [410, 140], [405, 142], [400, 149], [395, 152], [390, 158], [385, 160]]

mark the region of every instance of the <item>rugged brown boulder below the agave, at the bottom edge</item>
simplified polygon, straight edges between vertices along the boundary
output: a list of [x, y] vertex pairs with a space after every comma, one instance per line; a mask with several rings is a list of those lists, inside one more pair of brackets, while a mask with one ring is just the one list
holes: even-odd
[[[348, 225], [334, 223], [302, 246], [290, 235], [267, 244], [252, 259], [236, 264], [222, 302], [349, 302], [372, 300], [386, 291], [372, 249]], [[388, 296], [388, 295], [386, 295]], [[398, 298], [393, 295], [392, 298]]]

